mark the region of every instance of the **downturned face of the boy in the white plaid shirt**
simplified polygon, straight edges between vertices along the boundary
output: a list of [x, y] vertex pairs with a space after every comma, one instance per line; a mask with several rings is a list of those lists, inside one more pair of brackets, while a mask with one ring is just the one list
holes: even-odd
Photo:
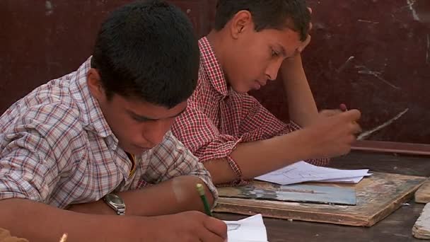
[[88, 78], [91, 93], [98, 100], [119, 146], [131, 154], [139, 155], [160, 144], [165, 133], [172, 127], [175, 117], [187, 108], [187, 101], [168, 109], [116, 94], [108, 100], [103, 88], [97, 84], [91, 85], [90, 82]]

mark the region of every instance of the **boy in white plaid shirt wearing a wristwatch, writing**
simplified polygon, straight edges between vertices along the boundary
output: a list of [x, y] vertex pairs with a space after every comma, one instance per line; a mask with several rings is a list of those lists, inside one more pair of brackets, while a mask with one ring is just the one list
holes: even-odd
[[211, 204], [216, 189], [169, 131], [198, 68], [179, 8], [112, 12], [92, 57], [0, 117], [0, 227], [30, 241], [224, 241], [222, 221], [185, 212], [203, 210], [197, 183]]

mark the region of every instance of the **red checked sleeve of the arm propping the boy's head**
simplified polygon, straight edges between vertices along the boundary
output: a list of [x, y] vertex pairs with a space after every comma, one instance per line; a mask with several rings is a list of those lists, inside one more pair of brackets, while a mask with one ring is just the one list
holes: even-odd
[[[240, 134], [244, 142], [270, 139], [301, 129], [295, 122], [290, 121], [286, 124], [279, 120], [252, 96], [245, 96], [242, 113]], [[330, 159], [325, 158], [306, 160], [315, 166], [326, 166], [329, 161]]]

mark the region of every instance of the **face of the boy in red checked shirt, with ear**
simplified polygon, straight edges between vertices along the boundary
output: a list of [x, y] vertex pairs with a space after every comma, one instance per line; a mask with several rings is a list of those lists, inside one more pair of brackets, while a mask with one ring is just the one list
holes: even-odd
[[282, 62], [294, 57], [303, 42], [289, 28], [256, 32], [252, 21], [247, 16], [238, 20], [238, 14], [231, 21], [231, 45], [228, 57], [223, 60], [223, 70], [235, 91], [247, 93], [277, 79]]

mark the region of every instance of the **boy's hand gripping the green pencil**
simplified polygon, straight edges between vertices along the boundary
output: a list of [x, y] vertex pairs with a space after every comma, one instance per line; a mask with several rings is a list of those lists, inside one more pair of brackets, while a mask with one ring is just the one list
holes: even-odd
[[147, 241], [227, 241], [227, 225], [202, 212], [190, 211], [179, 214], [150, 217], [150, 238]]

